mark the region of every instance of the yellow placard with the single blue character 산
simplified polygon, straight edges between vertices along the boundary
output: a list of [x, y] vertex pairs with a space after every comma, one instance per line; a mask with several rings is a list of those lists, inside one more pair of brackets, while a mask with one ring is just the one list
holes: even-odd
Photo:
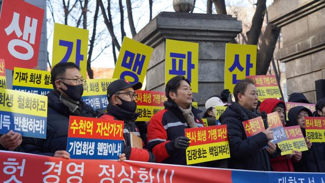
[[226, 43], [224, 64], [224, 89], [232, 94], [239, 80], [256, 74], [256, 45]]

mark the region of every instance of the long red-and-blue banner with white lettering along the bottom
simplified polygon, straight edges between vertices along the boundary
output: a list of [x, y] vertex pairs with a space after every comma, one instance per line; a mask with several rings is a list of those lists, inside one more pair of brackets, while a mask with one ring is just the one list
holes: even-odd
[[[1, 182], [325, 182], [323, 173], [268, 172], [114, 160], [66, 160], [0, 151]], [[35, 166], [37, 165], [37, 166]]]

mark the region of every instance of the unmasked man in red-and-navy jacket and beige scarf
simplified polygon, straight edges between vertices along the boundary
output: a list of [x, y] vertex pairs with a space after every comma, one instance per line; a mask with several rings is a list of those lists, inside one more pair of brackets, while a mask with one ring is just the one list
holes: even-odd
[[184, 129], [203, 127], [198, 115], [201, 110], [191, 106], [191, 85], [184, 76], [171, 78], [165, 91], [165, 109], [154, 114], [148, 124], [148, 147], [157, 163], [186, 165], [185, 149], [190, 142]]

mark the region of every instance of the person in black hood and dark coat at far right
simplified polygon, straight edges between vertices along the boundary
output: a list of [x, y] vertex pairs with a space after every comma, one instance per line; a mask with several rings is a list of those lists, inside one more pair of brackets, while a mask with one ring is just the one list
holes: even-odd
[[312, 117], [312, 112], [304, 106], [296, 106], [289, 110], [287, 126], [299, 125], [305, 137], [308, 151], [303, 151], [301, 161], [294, 162], [297, 172], [325, 172], [325, 145], [324, 143], [311, 143], [306, 137], [305, 117]]

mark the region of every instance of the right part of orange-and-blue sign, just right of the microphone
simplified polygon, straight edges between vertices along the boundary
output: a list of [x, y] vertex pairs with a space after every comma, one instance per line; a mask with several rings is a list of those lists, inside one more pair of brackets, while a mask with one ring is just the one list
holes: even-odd
[[273, 140], [271, 140], [271, 142], [277, 144], [279, 142], [287, 140], [284, 127], [282, 125], [278, 112], [272, 112], [268, 114], [268, 125], [272, 128], [273, 131]]

